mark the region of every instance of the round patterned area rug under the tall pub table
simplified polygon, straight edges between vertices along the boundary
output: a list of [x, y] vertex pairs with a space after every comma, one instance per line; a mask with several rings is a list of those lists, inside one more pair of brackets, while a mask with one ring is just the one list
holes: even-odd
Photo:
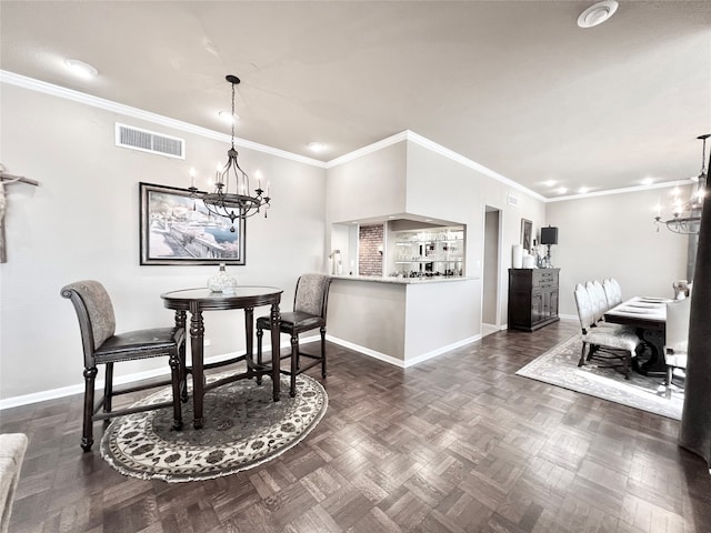
[[[212, 381], [221, 375], [208, 379]], [[281, 390], [289, 391], [282, 379]], [[206, 393], [203, 428], [192, 428], [192, 401], [182, 404], [183, 430], [172, 430], [172, 409], [114, 419], [101, 439], [101, 456], [124, 475], [184, 482], [209, 480], [251, 469], [303, 440], [328, 408], [321, 384], [301, 374], [297, 395], [271, 399], [271, 382], [229, 383]], [[139, 404], [171, 400], [167, 388]]]

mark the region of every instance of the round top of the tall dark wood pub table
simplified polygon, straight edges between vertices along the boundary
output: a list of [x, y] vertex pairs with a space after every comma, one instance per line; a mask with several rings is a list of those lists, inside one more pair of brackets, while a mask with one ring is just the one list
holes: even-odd
[[168, 309], [189, 310], [191, 303], [200, 309], [242, 309], [279, 303], [282, 289], [262, 285], [238, 285], [233, 292], [212, 292], [210, 289], [181, 289], [160, 295]]

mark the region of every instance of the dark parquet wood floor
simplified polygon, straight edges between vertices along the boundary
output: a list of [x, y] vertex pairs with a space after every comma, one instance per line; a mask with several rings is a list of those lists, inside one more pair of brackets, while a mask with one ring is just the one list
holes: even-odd
[[501, 331], [407, 370], [329, 343], [318, 428], [206, 482], [82, 453], [80, 396], [6, 410], [0, 430], [30, 438], [10, 531], [711, 532], [711, 476], [678, 422], [514, 375], [575, 331]]

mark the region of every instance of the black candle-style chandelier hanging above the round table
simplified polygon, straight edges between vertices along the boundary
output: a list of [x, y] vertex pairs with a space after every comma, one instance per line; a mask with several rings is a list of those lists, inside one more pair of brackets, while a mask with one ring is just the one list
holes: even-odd
[[[234, 117], [234, 86], [240, 82], [237, 76], [228, 74], [226, 80], [232, 84], [232, 117]], [[194, 185], [189, 188], [194, 197], [199, 197], [204, 207], [212, 214], [230, 219], [230, 231], [234, 232], [234, 221], [247, 219], [260, 212], [264, 208], [264, 218], [269, 209], [269, 182], [267, 190], [262, 190], [261, 178], [257, 178], [254, 195], [250, 195], [249, 175], [237, 162], [234, 149], [234, 121], [232, 121], [232, 148], [227, 152], [227, 163], [216, 172], [214, 192], [200, 192]], [[263, 194], [263, 195], [262, 195]]]

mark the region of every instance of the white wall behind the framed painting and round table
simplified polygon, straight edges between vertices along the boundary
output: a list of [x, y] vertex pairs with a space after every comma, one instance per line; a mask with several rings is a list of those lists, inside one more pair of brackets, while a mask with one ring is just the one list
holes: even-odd
[[[112, 295], [119, 330], [170, 325], [160, 293], [204, 286], [217, 266], [139, 265], [140, 181], [187, 188], [227, 159], [223, 142], [173, 131], [102, 109], [2, 84], [1, 162], [40, 182], [6, 188], [8, 262], [0, 264], [0, 399], [82, 383], [82, 354], [73, 306], [60, 289], [97, 279]], [[181, 137], [187, 160], [114, 145], [114, 122]], [[269, 217], [247, 221], [247, 264], [228, 266], [239, 283], [284, 289], [291, 309], [300, 273], [322, 271], [324, 170], [240, 149], [240, 163], [271, 181]], [[260, 310], [257, 310], [259, 315]], [[264, 310], [267, 313], [267, 310]], [[243, 350], [241, 311], [206, 313], [207, 356]], [[164, 364], [167, 369], [167, 363]], [[117, 376], [163, 368], [141, 361]]]

